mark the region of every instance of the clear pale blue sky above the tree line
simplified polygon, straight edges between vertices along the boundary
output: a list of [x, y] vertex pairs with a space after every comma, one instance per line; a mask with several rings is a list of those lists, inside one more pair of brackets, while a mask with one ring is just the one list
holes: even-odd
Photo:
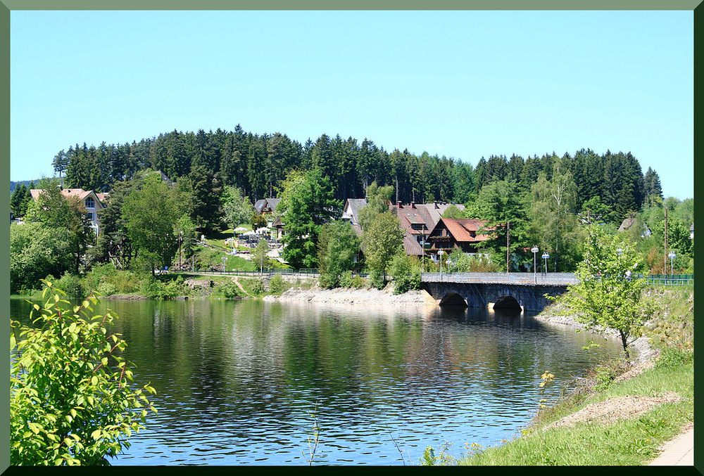
[[472, 165], [621, 150], [693, 198], [693, 11], [11, 12], [11, 180], [237, 124]]

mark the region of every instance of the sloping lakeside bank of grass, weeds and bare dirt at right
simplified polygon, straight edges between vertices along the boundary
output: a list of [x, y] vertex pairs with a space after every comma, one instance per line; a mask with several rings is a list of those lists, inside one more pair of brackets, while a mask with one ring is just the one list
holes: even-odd
[[640, 332], [660, 352], [654, 362], [633, 368], [614, 361], [592, 369], [574, 392], [536, 409], [510, 442], [488, 449], [468, 445], [456, 459], [440, 449], [426, 463], [648, 464], [694, 418], [693, 291], [651, 288], [648, 295], [656, 311]]

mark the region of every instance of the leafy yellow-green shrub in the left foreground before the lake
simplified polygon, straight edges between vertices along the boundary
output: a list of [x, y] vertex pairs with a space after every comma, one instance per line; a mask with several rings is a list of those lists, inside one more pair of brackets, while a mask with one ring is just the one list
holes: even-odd
[[[13, 465], [109, 465], [129, 448], [151, 406], [149, 384], [134, 390], [122, 357], [126, 343], [108, 328], [117, 316], [80, 306], [46, 283], [38, 328], [11, 321], [10, 462]], [[34, 319], [34, 311], [30, 314]]]

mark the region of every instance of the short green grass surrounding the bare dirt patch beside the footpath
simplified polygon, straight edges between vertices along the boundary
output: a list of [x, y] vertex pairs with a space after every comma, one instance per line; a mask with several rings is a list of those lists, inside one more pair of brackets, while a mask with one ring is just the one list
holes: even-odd
[[[577, 423], [572, 427], [540, 430], [547, 423], [610, 397], [655, 395], [677, 392], [684, 400], [662, 404], [630, 420], [612, 425]], [[460, 465], [643, 465], [655, 458], [658, 446], [693, 421], [693, 366], [652, 368], [641, 375], [609, 387], [605, 392], [565, 404], [551, 418], [524, 431], [522, 437], [489, 448], [467, 458]]]

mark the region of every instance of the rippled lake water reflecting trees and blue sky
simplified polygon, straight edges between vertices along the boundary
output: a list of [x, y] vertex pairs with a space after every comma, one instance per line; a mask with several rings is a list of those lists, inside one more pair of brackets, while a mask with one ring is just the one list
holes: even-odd
[[[158, 414], [113, 465], [417, 465], [495, 446], [620, 346], [525, 314], [261, 301], [108, 301]], [[26, 322], [30, 304], [11, 301]], [[602, 343], [585, 351], [589, 340]]]

